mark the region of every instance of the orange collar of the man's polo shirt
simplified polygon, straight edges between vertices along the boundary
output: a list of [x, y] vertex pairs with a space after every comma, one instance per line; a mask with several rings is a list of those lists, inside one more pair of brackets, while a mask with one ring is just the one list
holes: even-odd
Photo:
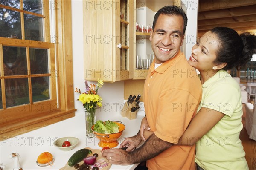
[[168, 69], [170, 66], [172, 66], [172, 64], [175, 62], [175, 60], [182, 55], [183, 53], [179, 50], [179, 52], [171, 59], [169, 59], [168, 61], [165, 61], [161, 66], [157, 67], [156, 69], [154, 69], [155, 67], [155, 59], [152, 61], [153, 64], [151, 64], [151, 66], [149, 67], [151, 72], [158, 72], [160, 74], [162, 74], [163, 72], [166, 71], [166, 69]]

